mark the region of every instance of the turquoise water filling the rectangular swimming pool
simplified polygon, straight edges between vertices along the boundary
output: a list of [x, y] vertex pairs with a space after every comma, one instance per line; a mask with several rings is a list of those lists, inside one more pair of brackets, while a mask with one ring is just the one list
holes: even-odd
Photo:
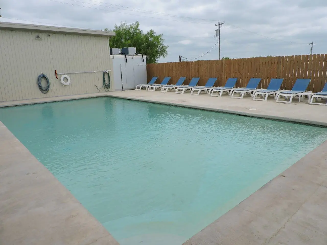
[[181, 245], [327, 139], [115, 98], [2, 108], [0, 120], [122, 245]]

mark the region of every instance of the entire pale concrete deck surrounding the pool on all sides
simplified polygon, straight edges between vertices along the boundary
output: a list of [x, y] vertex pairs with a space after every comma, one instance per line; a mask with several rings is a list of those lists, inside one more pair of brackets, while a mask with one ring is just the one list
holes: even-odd
[[[327, 126], [327, 107], [307, 102], [145, 90], [5, 102], [0, 107], [97, 96]], [[0, 244], [118, 244], [1, 122], [0, 139]], [[184, 245], [327, 244], [326, 206], [327, 141]]]

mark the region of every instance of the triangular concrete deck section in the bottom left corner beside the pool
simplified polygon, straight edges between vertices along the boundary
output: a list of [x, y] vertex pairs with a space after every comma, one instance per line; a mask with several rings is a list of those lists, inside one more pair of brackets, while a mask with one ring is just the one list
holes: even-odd
[[0, 244], [118, 245], [0, 122]]

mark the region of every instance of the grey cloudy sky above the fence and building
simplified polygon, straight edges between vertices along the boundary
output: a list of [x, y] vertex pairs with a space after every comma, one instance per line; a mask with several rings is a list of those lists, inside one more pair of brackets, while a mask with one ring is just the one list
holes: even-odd
[[[140, 22], [163, 33], [168, 56], [196, 58], [216, 43], [225, 22], [221, 57], [285, 56], [327, 52], [326, 0], [0, 0], [4, 22], [112, 29]], [[200, 59], [218, 59], [218, 45]]]

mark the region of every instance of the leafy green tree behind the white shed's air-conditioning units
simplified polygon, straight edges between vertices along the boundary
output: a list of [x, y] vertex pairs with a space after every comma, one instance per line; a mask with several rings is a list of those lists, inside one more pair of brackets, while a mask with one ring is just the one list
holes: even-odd
[[[104, 29], [108, 31], [108, 28]], [[138, 54], [147, 55], [146, 63], [156, 63], [158, 58], [168, 55], [168, 46], [164, 45], [163, 34], [156, 35], [154, 30], [144, 33], [140, 29], [139, 22], [132, 24], [120, 23], [113, 30], [116, 36], [110, 38], [111, 48], [136, 47]]]

